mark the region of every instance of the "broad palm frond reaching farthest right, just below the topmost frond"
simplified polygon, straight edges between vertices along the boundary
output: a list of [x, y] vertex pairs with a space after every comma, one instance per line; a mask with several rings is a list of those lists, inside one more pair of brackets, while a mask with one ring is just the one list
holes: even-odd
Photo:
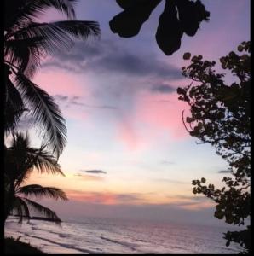
[[31, 78], [45, 55], [70, 49], [74, 38], [85, 40], [93, 36], [100, 36], [100, 27], [95, 21], [32, 22], [5, 41], [5, 60], [20, 68], [20, 72], [26, 70], [26, 77]]

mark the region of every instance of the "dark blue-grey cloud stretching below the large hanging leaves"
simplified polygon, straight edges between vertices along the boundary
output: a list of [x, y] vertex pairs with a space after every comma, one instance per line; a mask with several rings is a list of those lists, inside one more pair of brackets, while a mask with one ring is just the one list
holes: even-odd
[[66, 54], [55, 55], [51, 61], [43, 63], [43, 67], [56, 67], [84, 73], [85, 70], [101, 72], [124, 73], [133, 76], [157, 78], [182, 78], [178, 67], [157, 60], [153, 55], [133, 55], [122, 49], [111, 40], [96, 41], [95, 44], [78, 42]]

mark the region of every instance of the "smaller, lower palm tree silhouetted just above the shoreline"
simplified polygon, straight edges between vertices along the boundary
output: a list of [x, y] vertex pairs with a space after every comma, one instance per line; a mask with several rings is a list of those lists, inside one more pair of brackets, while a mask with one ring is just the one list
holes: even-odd
[[61, 219], [48, 207], [43, 207], [29, 196], [47, 196], [55, 200], [67, 200], [65, 192], [54, 187], [43, 187], [38, 184], [23, 185], [34, 169], [39, 172], [61, 174], [61, 168], [52, 154], [41, 148], [30, 147], [29, 137], [22, 133], [14, 133], [10, 147], [5, 146], [5, 172], [4, 172], [4, 221], [9, 214], [17, 213], [20, 222], [23, 217], [30, 217], [31, 209], [40, 212], [48, 220], [60, 223]]

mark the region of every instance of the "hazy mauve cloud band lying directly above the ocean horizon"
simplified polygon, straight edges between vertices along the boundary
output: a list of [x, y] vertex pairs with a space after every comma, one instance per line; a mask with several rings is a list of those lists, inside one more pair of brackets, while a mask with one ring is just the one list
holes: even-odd
[[[69, 195], [68, 195], [69, 196]], [[222, 227], [222, 221], [213, 218], [214, 207], [200, 207], [199, 211], [176, 205], [151, 204], [100, 204], [89, 201], [53, 201], [43, 199], [43, 205], [54, 208], [64, 220], [93, 218], [114, 218], [159, 221], [165, 224], [212, 224]]]

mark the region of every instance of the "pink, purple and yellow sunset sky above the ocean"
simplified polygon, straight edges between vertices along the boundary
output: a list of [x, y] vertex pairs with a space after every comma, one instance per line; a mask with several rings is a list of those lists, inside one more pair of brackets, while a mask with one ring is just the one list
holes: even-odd
[[[78, 20], [98, 21], [101, 38], [77, 41], [48, 58], [33, 79], [55, 97], [66, 119], [59, 160], [66, 177], [34, 172], [28, 183], [66, 191], [69, 201], [42, 201], [61, 218], [221, 223], [213, 217], [213, 202], [193, 195], [192, 180], [205, 177], [222, 187], [228, 165], [215, 148], [188, 135], [182, 124], [188, 106], [176, 89], [191, 82], [181, 73], [189, 63], [185, 52], [218, 61], [250, 39], [250, 1], [202, 2], [210, 21], [194, 37], [184, 35], [170, 56], [154, 37], [164, 3], [133, 38], [111, 32], [108, 22], [122, 10], [114, 0], [77, 3]], [[61, 18], [51, 10], [41, 17]]]

